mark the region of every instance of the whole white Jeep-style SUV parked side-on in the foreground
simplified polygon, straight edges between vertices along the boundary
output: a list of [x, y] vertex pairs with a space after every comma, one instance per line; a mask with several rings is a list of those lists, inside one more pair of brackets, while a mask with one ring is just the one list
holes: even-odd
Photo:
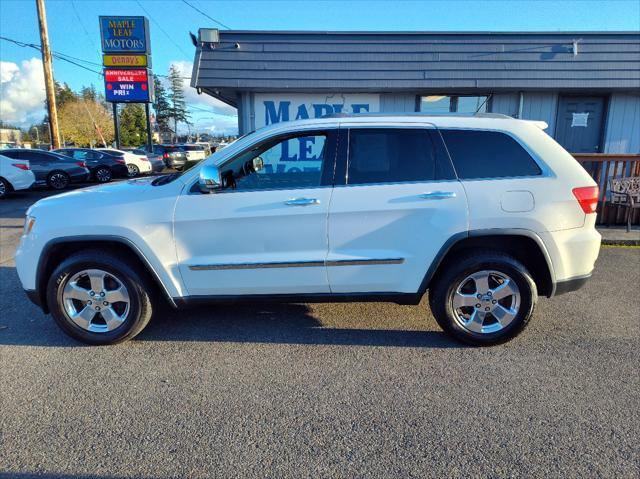
[[[418, 304], [455, 338], [514, 337], [600, 247], [598, 188], [544, 124], [340, 116], [253, 132], [193, 169], [27, 212], [28, 296], [71, 336], [130, 339], [163, 297]], [[82, 214], [78, 214], [82, 211]]]

